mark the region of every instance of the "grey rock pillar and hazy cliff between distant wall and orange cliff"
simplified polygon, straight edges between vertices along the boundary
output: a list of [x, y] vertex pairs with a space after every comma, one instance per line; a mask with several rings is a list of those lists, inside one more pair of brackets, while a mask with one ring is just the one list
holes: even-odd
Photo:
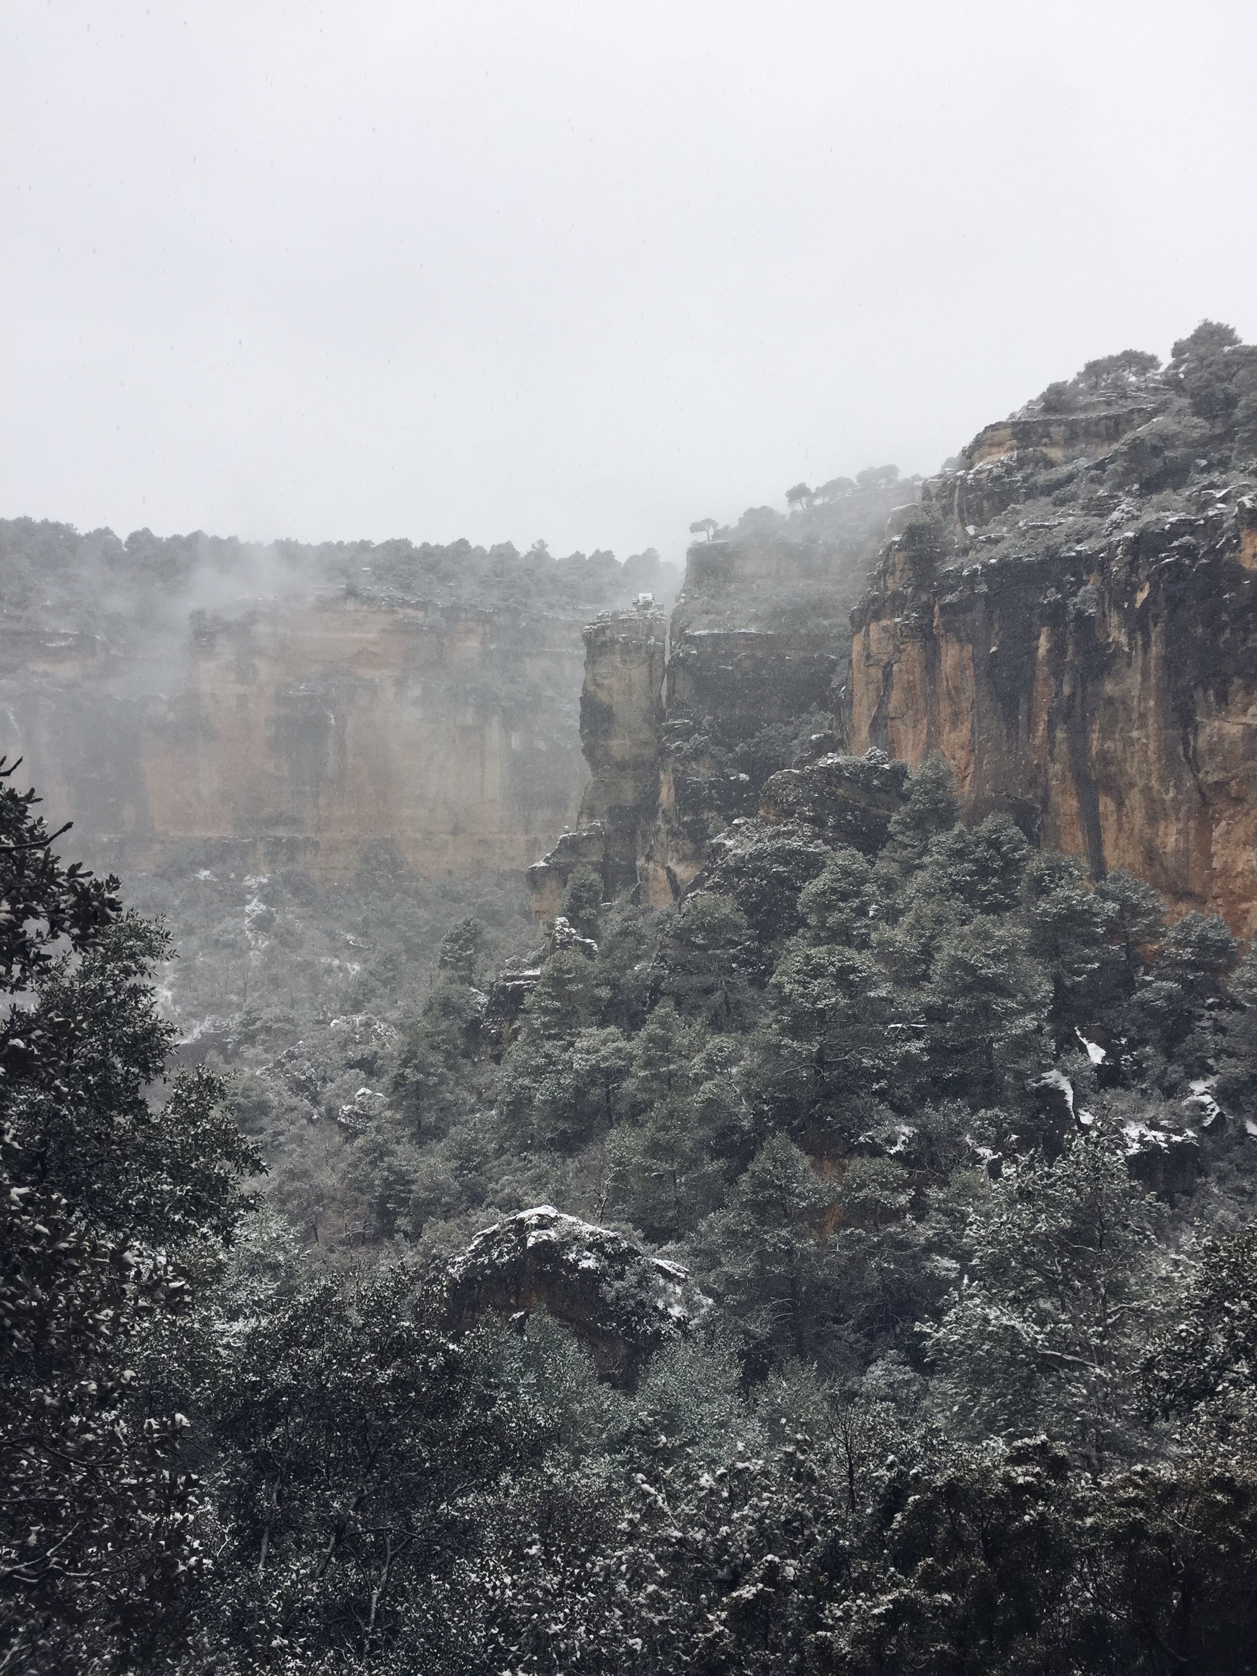
[[[585, 635], [582, 826], [528, 875], [553, 918], [578, 865], [608, 895], [675, 902], [712, 838], [754, 816], [766, 781], [835, 741], [848, 615], [888, 508], [915, 499], [893, 468], [791, 520], [766, 508], [689, 551], [670, 628], [652, 610], [603, 613]], [[784, 816], [783, 816], [784, 818]]]

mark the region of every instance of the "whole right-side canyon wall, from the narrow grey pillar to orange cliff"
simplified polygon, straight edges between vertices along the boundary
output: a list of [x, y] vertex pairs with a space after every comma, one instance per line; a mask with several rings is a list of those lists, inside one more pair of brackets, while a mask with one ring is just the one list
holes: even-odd
[[587, 640], [598, 727], [635, 734], [634, 813], [587, 729], [583, 828], [533, 868], [535, 910], [577, 851], [665, 905], [737, 820], [858, 833], [853, 759], [877, 778], [937, 751], [970, 823], [1006, 811], [1093, 877], [1125, 866], [1252, 937], [1254, 478], [1257, 349], [1205, 323], [1165, 370], [1113, 355], [982, 431], [892, 513], [863, 598], [833, 548], [697, 543], [655, 711], [628, 701], [655, 662], [610, 622]]

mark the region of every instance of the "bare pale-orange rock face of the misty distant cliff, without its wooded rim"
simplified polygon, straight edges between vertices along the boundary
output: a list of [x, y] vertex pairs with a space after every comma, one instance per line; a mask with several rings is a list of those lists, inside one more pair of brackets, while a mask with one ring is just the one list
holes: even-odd
[[335, 600], [198, 613], [159, 669], [8, 650], [5, 747], [111, 865], [523, 868], [577, 816], [577, 622]]

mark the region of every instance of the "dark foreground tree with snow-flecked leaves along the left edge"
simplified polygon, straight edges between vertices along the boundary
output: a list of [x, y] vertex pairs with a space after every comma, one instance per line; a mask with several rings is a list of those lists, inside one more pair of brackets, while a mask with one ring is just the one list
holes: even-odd
[[146, 1093], [173, 1037], [151, 991], [164, 932], [52, 858], [34, 798], [3, 796], [22, 996], [0, 1027], [0, 1661], [69, 1676], [181, 1642], [204, 1564], [188, 1420], [146, 1410], [131, 1358], [231, 1239], [256, 1158], [208, 1073]]

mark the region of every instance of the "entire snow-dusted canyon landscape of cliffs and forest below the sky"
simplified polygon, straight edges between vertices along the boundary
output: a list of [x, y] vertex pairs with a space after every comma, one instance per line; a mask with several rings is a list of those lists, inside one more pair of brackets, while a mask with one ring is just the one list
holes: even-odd
[[0, 526], [164, 917], [0, 763], [15, 1668], [1249, 1671], [1254, 476], [1205, 322], [674, 602]]

